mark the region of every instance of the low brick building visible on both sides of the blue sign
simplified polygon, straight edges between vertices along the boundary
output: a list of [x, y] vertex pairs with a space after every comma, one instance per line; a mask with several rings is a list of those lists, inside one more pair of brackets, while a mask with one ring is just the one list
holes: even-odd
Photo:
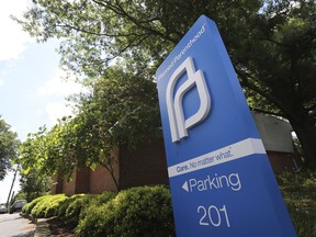
[[[296, 170], [302, 166], [292, 142], [292, 127], [282, 120], [253, 113], [253, 119], [261, 135], [268, 157], [275, 172], [283, 169]], [[162, 139], [154, 139], [128, 151], [121, 148], [114, 165], [114, 176], [120, 189], [138, 185], [168, 184], [167, 161]], [[95, 170], [81, 168], [74, 172], [70, 182], [63, 177], [54, 177], [52, 193], [101, 193], [105, 190], [116, 191], [110, 172], [102, 167]]]

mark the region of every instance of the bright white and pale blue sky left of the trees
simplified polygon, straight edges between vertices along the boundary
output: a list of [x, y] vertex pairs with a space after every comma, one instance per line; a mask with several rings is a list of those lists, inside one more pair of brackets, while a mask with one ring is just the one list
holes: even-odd
[[[24, 33], [10, 15], [26, 10], [27, 0], [0, 0], [0, 115], [24, 140], [38, 127], [57, 123], [69, 115], [65, 97], [81, 87], [63, 80], [56, 41], [37, 44]], [[0, 181], [0, 203], [8, 199], [13, 174]], [[18, 190], [19, 184], [13, 190]]]

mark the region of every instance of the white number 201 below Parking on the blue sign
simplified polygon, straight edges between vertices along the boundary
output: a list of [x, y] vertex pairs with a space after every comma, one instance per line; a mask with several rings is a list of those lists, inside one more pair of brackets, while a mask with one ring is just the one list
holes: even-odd
[[230, 227], [229, 217], [225, 205], [223, 205], [222, 208], [218, 208], [215, 205], [210, 205], [208, 207], [200, 205], [198, 206], [198, 213], [201, 214], [201, 226], [210, 226], [211, 224], [214, 227], [219, 227], [222, 225], [222, 219], [224, 219], [224, 224], [226, 224], [227, 227]]

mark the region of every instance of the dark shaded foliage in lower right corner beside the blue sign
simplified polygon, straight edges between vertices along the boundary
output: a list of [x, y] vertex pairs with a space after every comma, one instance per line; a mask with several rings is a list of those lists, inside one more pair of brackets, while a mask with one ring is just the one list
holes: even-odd
[[283, 172], [278, 181], [298, 237], [316, 237], [316, 171]]

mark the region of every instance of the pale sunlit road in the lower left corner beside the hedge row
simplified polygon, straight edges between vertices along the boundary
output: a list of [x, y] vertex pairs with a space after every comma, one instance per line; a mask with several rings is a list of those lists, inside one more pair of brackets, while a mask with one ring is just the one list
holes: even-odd
[[1, 237], [31, 237], [34, 236], [35, 225], [19, 213], [0, 214]]

